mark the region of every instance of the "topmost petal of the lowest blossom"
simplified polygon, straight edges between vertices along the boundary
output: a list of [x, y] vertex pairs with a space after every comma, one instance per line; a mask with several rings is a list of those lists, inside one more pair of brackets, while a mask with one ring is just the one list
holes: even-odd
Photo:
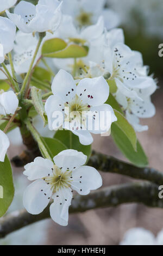
[[77, 150], [67, 149], [54, 156], [54, 163], [62, 167], [62, 171], [73, 170], [85, 164], [87, 156]]

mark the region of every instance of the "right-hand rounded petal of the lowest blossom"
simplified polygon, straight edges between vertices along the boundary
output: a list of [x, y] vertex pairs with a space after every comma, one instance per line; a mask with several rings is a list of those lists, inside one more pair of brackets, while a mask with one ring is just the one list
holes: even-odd
[[72, 173], [72, 189], [79, 194], [89, 194], [91, 190], [97, 190], [102, 186], [102, 178], [93, 167], [82, 166]]

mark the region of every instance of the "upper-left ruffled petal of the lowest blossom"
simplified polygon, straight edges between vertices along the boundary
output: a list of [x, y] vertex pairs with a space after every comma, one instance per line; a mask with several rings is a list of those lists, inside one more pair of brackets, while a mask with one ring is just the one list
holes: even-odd
[[24, 166], [23, 174], [28, 176], [28, 180], [42, 179], [48, 174], [52, 174], [53, 162], [43, 157], [36, 157], [34, 162]]

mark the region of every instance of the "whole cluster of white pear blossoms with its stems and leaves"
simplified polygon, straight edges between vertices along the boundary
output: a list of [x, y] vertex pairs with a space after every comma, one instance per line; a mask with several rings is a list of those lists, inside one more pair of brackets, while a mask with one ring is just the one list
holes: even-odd
[[[9, 148], [9, 130], [20, 127], [29, 150], [33, 136], [42, 157], [24, 167], [33, 183], [23, 204], [35, 215], [52, 203], [52, 219], [67, 225], [72, 192], [86, 195], [102, 186], [97, 170], [84, 165], [89, 154], [79, 152], [80, 144], [90, 149], [91, 133], [110, 135], [117, 121], [134, 135], [147, 130], [140, 118], [155, 114], [156, 81], [141, 53], [124, 44], [123, 31], [116, 28], [120, 19], [104, 8], [105, 0], [20, 1], [8, 10], [16, 2], [2, 1], [0, 8], [7, 16], [0, 16], [0, 82], [7, 86], [0, 92], [0, 161]], [[70, 143], [55, 136], [53, 147], [45, 143], [33, 126], [38, 114], [49, 130], [70, 131]]]

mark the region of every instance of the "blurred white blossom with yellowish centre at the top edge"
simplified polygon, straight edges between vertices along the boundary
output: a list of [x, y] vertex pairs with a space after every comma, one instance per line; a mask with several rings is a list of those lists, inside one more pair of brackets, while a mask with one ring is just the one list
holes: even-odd
[[74, 24], [78, 27], [95, 24], [101, 15], [104, 17], [107, 29], [117, 27], [120, 19], [115, 11], [104, 9], [105, 2], [105, 0], [64, 0], [62, 13], [72, 16]]

